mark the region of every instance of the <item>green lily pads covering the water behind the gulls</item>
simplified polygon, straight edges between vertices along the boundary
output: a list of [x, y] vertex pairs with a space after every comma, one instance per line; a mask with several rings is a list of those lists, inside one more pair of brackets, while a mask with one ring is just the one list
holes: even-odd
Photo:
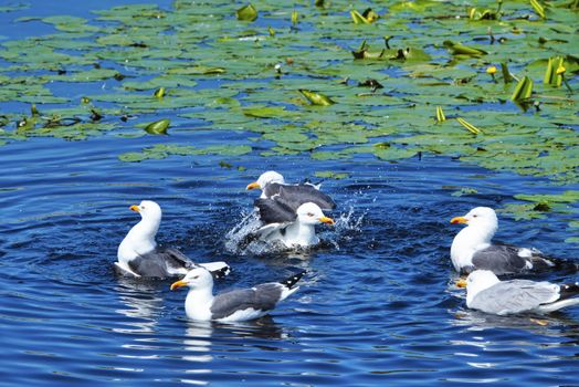
[[[255, 133], [263, 156], [444, 155], [577, 185], [579, 1], [472, 3], [176, 0], [20, 18], [56, 32], [0, 44], [13, 107], [0, 144], [203, 127]], [[162, 140], [119, 158], [250, 151]], [[569, 198], [520, 197], [535, 213]]]

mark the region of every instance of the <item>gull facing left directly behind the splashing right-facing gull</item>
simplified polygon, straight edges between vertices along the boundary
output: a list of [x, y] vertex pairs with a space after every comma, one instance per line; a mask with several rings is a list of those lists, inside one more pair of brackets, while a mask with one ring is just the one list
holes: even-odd
[[323, 210], [336, 208], [334, 200], [319, 190], [319, 185], [315, 186], [309, 182], [288, 185], [284, 177], [274, 170], [263, 172], [256, 181], [250, 182], [246, 189], [261, 189], [261, 199], [276, 198], [294, 211], [306, 202], [314, 202]]

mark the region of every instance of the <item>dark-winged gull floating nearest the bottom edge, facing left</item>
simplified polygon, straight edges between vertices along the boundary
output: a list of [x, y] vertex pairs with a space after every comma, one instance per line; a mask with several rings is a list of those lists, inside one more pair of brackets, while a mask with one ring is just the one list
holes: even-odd
[[204, 268], [196, 268], [171, 284], [171, 290], [189, 286], [185, 300], [187, 316], [196, 321], [241, 322], [255, 320], [273, 310], [299, 286], [305, 271], [281, 282], [269, 282], [251, 289], [240, 289], [213, 295], [213, 275]]

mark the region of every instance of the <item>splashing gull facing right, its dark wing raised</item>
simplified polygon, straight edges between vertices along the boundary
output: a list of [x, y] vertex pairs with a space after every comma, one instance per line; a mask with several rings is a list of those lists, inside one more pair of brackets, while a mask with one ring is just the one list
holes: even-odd
[[281, 241], [286, 248], [309, 247], [319, 243], [316, 236], [316, 224], [334, 224], [334, 219], [322, 212], [318, 205], [306, 202], [294, 211], [283, 201], [274, 199], [256, 199], [255, 207], [264, 223], [254, 233], [260, 240]]

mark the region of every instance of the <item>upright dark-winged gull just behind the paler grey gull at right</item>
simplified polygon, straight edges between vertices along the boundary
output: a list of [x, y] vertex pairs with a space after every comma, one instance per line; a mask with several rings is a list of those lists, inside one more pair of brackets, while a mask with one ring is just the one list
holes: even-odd
[[545, 270], [555, 262], [536, 249], [509, 244], [493, 244], [491, 239], [498, 228], [495, 210], [476, 207], [464, 217], [451, 219], [451, 223], [465, 223], [451, 247], [451, 260], [459, 273], [476, 269], [491, 270], [497, 275]]

